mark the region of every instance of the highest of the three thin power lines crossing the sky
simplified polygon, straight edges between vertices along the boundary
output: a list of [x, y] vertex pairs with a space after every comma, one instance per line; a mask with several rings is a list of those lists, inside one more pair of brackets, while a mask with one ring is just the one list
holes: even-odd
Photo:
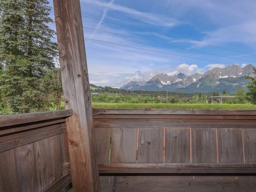
[[200, 43], [200, 42], [195, 42], [195, 41], [192, 41], [192, 40], [187, 40], [185, 38], [179, 38], [179, 37], [175, 37], [175, 36], [168, 36], [168, 35], [164, 35], [162, 33], [156, 33], [154, 31], [147, 31], [147, 30], [144, 30], [144, 29], [138, 29], [138, 28], [134, 28], [134, 27], [131, 27], [131, 26], [125, 26], [123, 24], [118, 24], [116, 22], [110, 22], [110, 21], [107, 21], [107, 20], [103, 20], [103, 19], [97, 19], [95, 17], [89, 17], [89, 16], [86, 16], [86, 15], [82, 15], [82, 17], [87, 17], [87, 18], [90, 18], [90, 19], [95, 19], [95, 20], [100, 20], [102, 22], [108, 22], [110, 24], [115, 24], [117, 26], [122, 26], [122, 27], [125, 27], [125, 28], [130, 28], [130, 29], [136, 29], [138, 31], [144, 31], [144, 32], [147, 32], [147, 33], [152, 33], [152, 34], [155, 34], [155, 35], [160, 35], [160, 36], [166, 36], [168, 38], [175, 38], [175, 39], [178, 39], [178, 40], [182, 40], [182, 41], [185, 41], [185, 42], [189, 42], [191, 44], [199, 44], [199, 45], [205, 45], [205, 46], [208, 46], [208, 47], [214, 47], [214, 48], [218, 48], [218, 49], [224, 49], [224, 50], [227, 50], [227, 51], [234, 51], [234, 52], [240, 52], [240, 53], [244, 53], [244, 54], [250, 54], [250, 55], [254, 55], [256, 56], [256, 54], [253, 54], [253, 53], [250, 53], [250, 52], [243, 52], [243, 51], [237, 51], [237, 50], [234, 50], [234, 49], [228, 49], [228, 48], [225, 48], [225, 47], [218, 47], [218, 46], [215, 46], [215, 45], [209, 45], [209, 44], [204, 44], [204, 43]]

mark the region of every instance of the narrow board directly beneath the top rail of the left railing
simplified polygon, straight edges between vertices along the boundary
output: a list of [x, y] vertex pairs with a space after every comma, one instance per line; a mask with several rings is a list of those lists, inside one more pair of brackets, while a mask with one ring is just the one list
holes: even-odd
[[42, 127], [47, 127], [50, 125], [56, 125], [56, 124], [61, 124], [61, 123], [65, 123], [66, 120], [65, 118], [63, 119], [57, 119], [57, 120], [51, 120], [51, 121], [47, 121], [47, 122], [36, 122], [36, 123], [31, 123], [31, 124], [22, 124], [22, 126], [19, 125], [13, 125], [10, 127], [2, 127], [0, 128], [0, 136], [4, 135], [4, 134], [10, 134], [10, 133], [14, 133], [14, 132], [21, 132], [21, 131], [27, 131], [29, 129], [36, 129], [36, 128], [42, 128]]

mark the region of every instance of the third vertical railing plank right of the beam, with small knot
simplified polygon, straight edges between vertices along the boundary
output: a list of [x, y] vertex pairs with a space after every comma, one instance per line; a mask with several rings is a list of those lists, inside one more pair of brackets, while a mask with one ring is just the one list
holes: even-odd
[[163, 138], [162, 128], [140, 129], [138, 163], [163, 163]]

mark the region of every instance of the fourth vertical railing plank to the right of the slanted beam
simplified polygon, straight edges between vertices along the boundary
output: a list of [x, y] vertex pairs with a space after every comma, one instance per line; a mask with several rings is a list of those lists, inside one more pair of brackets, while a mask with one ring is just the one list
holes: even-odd
[[166, 129], [165, 163], [190, 163], [189, 129]]

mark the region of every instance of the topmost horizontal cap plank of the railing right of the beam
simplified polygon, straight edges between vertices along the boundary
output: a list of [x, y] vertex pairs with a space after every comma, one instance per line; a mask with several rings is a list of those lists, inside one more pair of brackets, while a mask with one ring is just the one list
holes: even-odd
[[202, 109], [99, 109], [93, 114], [104, 115], [256, 115], [255, 110], [202, 110]]

